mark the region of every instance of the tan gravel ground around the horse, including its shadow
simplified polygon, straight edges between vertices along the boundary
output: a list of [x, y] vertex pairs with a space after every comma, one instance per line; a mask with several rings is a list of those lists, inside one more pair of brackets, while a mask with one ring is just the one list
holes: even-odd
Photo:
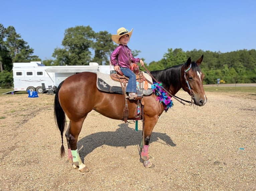
[[[185, 92], [180, 97], [189, 99]], [[156, 124], [149, 154], [140, 161], [141, 121], [92, 111], [78, 148], [90, 169], [81, 173], [60, 158], [53, 95], [0, 96], [0, 191], [4, 190], [256, 190], [256, 95], [206, 92], [203, 107], [174, 100]]]

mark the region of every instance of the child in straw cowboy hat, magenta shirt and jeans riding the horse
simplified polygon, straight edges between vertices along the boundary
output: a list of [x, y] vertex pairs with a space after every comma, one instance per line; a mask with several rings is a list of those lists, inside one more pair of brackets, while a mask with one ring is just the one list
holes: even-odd
[[131, 49], [127, 46], [127, 43], [132, 36], [132, 31], [133, 29], [128, 32], [124, 27], [121, 27], [117, 30], [117, 35], [112, 35], [112, 40], [116, 44], [119, 44], [119, 46], [116, 47], [110, 56], [110, 62], [114, 66], [114, 70], [118, 71], [120, 69], [124, 76], [129, 78], [126, 93], [130, 100], [137, 97], [136, 75], [130, 70], [130, 66], [132, 63], [138, 62], [140, 62], [141, 66], [144, 65], [143, 60], [132, 56]]

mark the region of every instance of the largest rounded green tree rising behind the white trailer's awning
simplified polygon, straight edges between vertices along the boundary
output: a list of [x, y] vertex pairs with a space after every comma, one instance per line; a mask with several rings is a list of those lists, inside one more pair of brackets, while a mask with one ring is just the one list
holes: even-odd
[[89, 65], [95, 32], [90, 26], [76, 26], [65, 30], [62, 46], [56, 48], [52, 57], [57, 65]]

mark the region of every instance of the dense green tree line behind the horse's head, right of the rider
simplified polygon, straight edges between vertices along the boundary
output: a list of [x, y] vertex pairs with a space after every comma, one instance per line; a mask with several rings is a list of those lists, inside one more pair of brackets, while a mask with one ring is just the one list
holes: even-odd
[[204, 84], [217, 84], [217, 79], [231, 83], [256, 83], [256, 50], [237, 50], [221, 53], [203, 50], [182, 51], [168, 49], [158, 62], [149, 63], [149, 71], [162, 70], [184, 63], [187, 58], [199, 59], [204, 55], [200, 65], [205, 74]]

